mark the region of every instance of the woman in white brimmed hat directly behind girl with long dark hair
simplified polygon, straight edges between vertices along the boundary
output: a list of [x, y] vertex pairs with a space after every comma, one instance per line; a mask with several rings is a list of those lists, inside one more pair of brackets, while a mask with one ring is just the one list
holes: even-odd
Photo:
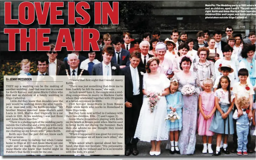
[[234, 77], [232, 75], [230, 75], [229, 73], [232, 73], [234, 72], [234, 70], [231, 68], [230, 65], [228, 64], [225, 64], [225, 65], [219, 65], [219, 68], [218, 68], [218, 71], [222, 73], [222, 75], [219, 75], [216, 80], [215, 80], [215, 83], [214, 83], [214, 91], [217, 90], [217, 87], [218, 87], [218, 84], [219, 84], [219, 79], [222, 77], [222, 76], [228, 76], [229, 79], [230, 79], [230, 89], [232, 90], [233, 86], [234, 86]]

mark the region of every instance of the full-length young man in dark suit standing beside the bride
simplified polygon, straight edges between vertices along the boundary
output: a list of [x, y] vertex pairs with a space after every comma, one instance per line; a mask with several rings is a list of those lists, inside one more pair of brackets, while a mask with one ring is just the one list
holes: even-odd
[[125, 76], [125, 155], [138, 155], [138, 138], [133, 138], [142, 107], [143, 93], [143, 69], [138, 67], [141, 59], [139, 51], [131, 53], [131, 64], [122, 68]]

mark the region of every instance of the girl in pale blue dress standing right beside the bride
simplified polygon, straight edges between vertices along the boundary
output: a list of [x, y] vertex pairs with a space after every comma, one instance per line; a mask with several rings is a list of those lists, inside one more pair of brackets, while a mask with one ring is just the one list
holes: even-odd
[[[170, 120], [167, 120], [168, 122], [168, 128], [170, 131], [170, 143], [167, 144], [166, 149], [170, 149], [171, 144], [171, 154], [174, 154], [175, 152], [180, 154], [179, 148], [178, 148], [178, 139], [179, 139], [179, 131], [182, 129], [182, 107], [184, 105], [182, 94], [180, 92], [176, 92], [179, 87], [179, 83], [176, 79], [173, 79], [170, 83], [170, 94], [166, 95], [166, 102], [167, 102], [167, 112], [168, 114], [172, 110], [173, 112], [176, 112], [180, 119], [177, 119], [175, 122], [171, 122]], [[174, 133], [174, 136], [173, 136]], [[174, 143], [175, 140], [175, 143]]]

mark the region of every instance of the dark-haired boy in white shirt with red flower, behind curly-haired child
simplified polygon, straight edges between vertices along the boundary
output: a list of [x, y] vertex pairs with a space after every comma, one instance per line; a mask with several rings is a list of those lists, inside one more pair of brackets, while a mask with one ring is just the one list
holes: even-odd
[[[252, 117], [252, 104], [253, 104], [253, 96], [254, 96], [254, 90], [253, 87], [250, 83], [248, 83], [247, 78], [249, 76], [248, 70], [245, 68], [241, 68], [238, 71], [238, 78], [239, 78], [239, 82], [236, 82], [234, 87], [233, 87], [233, 92], [235, 93], [235, 105], [234, 105], [234, 110], [237, 109], [237, 114], [238, 116], [243, 115], [243, 111], [241, 108], [237, 108], [236, 106], [239, 106], [237, 103], [237, 100], [242, 97], [245, 96], [246, 98], [249, 99], [249, 103], [250, 103], [250, 107], [249, 107], [249, 113], [248, 113], [248, 117], [249, 119]], [[235, 133], [233, 134], [233, 141], [234, 141], [234, 148], [232, 148], [231, 152], [236, 152], [237, 149], [237, 133], [236, 133], [236, 120], [234, 119], [234, 130]], [[250, 134], [248, 134], [248, 152], [252, 153], [253, 150], [250, 147], [250, 141], [251, 141], [251, 136]]]

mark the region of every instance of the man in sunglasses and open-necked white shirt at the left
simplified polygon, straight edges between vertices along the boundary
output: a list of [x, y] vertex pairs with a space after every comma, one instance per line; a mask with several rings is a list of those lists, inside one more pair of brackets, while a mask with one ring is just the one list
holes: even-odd
[[58, 53], [55, 51], [55, 45], [50, 44], [51, 51], [47, 52], [47, 56], [49, 57], [49, 67], [46, 70], [48, 75], [53, 75], [55, 80], [55, 75], [59, 75], [60, 71], [65, 70], [64, 61], [57, 60]]

